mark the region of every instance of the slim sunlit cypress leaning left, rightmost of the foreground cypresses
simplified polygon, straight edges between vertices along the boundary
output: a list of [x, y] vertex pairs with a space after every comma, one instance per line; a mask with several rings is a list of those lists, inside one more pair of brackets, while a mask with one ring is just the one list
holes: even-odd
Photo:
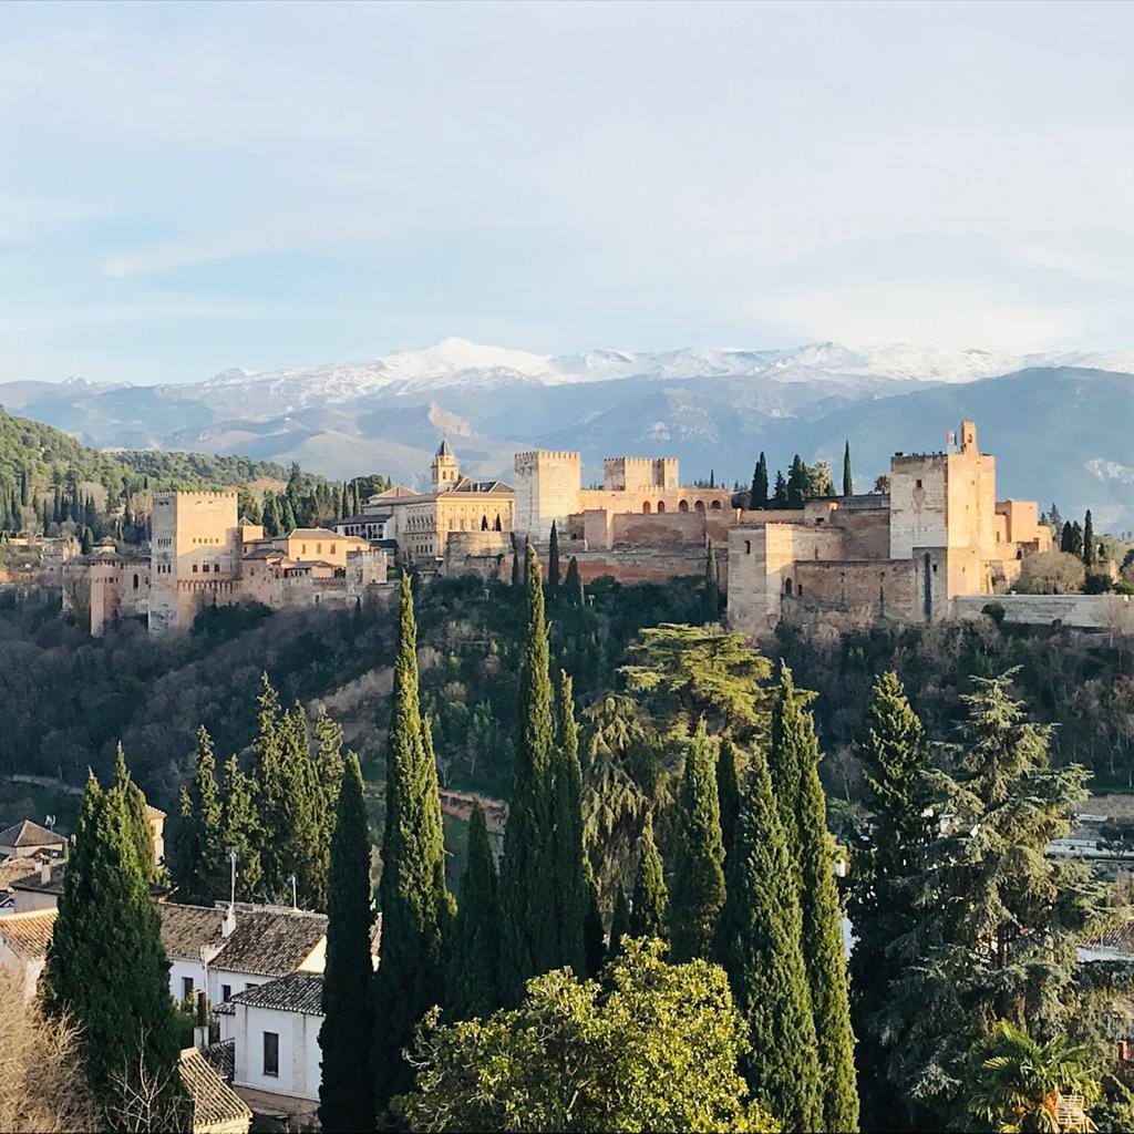
[[[835, 854], [827, 830], [827, 803], [819, 781], [819, 741], [806, 709], [812, 694], [795, 688], [780, 666], [780, 688], [772, 712], [772, 753], [781, 779], [781, 812], [790, 813], [787, 845], [794, 852], [803, 956], [811, 988], [819, 1063], [823, 1081], [823, 1129], [858, 1128], [854, 1034], [843, 947], [843, 908], [835, 883]], [[794, 824], [794, 840], [790, 828]]]

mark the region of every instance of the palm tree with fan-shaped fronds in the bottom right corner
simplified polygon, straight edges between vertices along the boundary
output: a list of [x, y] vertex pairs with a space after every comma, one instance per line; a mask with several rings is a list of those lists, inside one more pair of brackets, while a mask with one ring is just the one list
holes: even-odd
[[1074, 1116], [1075, 1126], [1064, 1125], [1060, 1095], [1073, 1095], [1091, 1106], [1102, 1091], [1093, 1052], [1066, 1035], [1046, 1042], [1002, 1019], [992, 1035], [980, 1043], [973, 1061], [976, 1082], [968, 1098], [973, 1117], [993, 1131], [1095, 1129], [1086, 1115]]

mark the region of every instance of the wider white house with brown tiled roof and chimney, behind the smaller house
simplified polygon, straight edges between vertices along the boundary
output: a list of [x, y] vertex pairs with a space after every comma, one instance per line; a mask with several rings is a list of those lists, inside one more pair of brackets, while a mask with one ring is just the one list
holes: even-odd
[[178, 1002], [204, 990], [210, 1004], [225, 1004], [288, 973], [323, 971], [325, 914], [243, 902], [231, 909], [160, 902], [158, 909]]

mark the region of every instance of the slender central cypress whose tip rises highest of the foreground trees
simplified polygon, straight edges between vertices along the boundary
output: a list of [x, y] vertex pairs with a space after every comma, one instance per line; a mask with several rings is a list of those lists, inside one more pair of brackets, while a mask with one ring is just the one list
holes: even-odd
[[527, 548], [527, 643], [519, 672], [515, 767], [500, 869], [501, 991], [518, 1002], [524, 982], [560, 963], [551, 792], [551, 682], [540, 561]]

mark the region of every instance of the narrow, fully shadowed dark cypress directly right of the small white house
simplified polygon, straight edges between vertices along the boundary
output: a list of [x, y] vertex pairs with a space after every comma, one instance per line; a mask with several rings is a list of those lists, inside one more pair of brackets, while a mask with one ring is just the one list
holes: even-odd
[[352, 752], [344, 764], [331, 836], [327, 904], [327, 967], [323, 973], [323, 1052], [319, 1122], [330, 1134], [374, 1128], [371, 1046], [373, 970], [370, 932], [370, 835], [362, 796], [362, 769]]

